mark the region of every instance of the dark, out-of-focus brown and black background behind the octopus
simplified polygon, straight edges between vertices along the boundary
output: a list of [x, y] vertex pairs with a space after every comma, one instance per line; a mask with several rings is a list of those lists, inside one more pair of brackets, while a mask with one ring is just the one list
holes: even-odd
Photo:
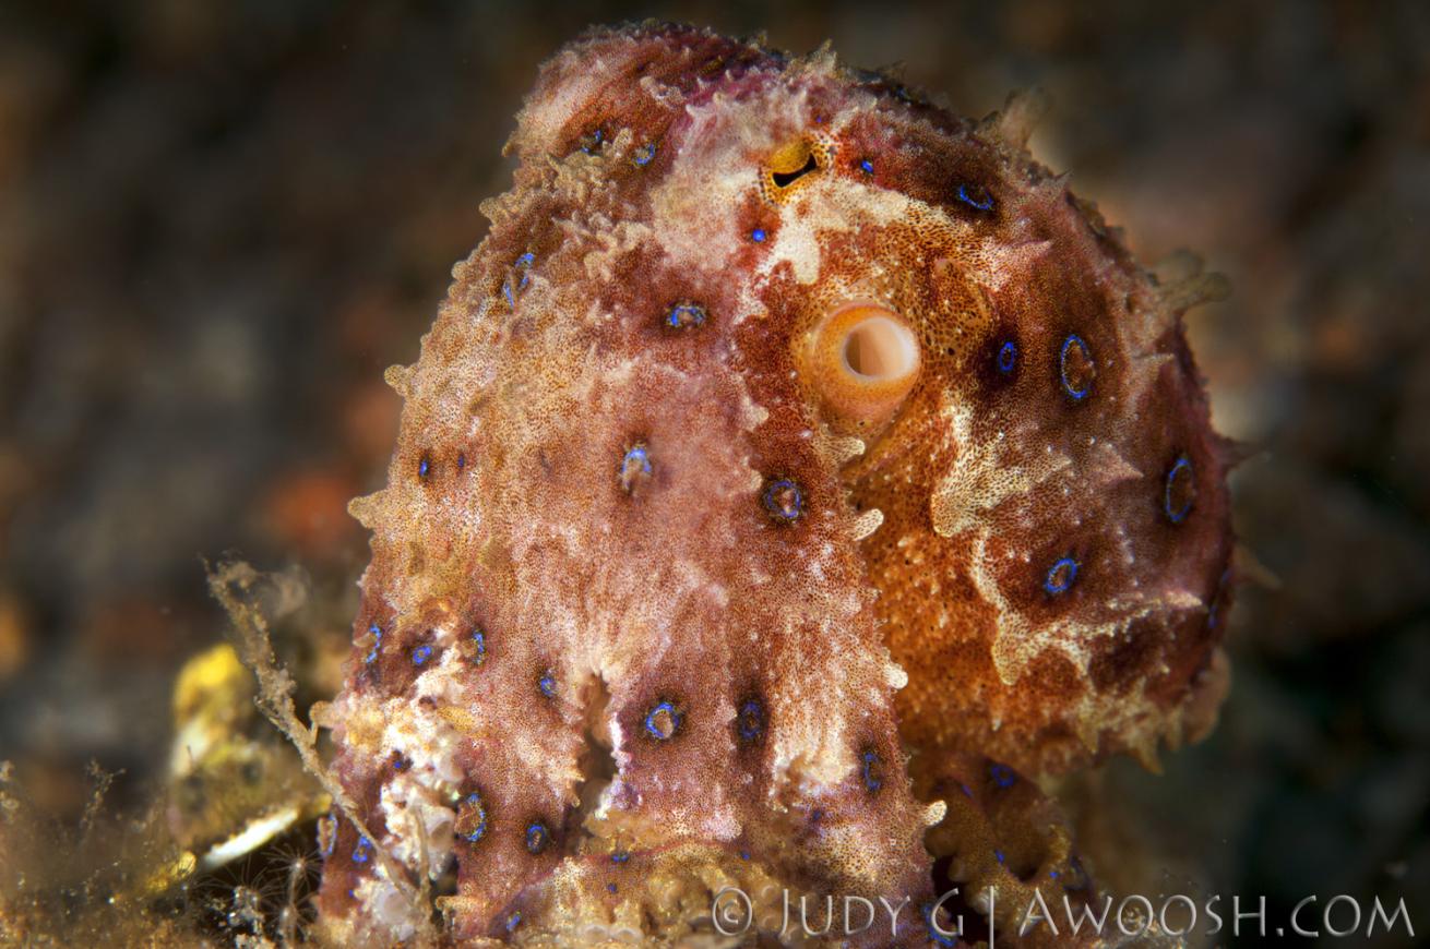
[[346, 636], [382, 370], [482, 239], [536, 66], [656, 16], [831, 39], [968, 116], [1042, 86], [1034, 153], [1144, 262], [1231, 277], [1190, 334], [1260, 449], [1263, 585], [1216, 735], [1095, 782], [1213, 892], [1430, 928], [1430, 4], [399, 6], [0, 4], [0, 760], [34, 796], [77, 815], [90, 759], [149, 793], [222, 635], [200, 557], [300, 566]]

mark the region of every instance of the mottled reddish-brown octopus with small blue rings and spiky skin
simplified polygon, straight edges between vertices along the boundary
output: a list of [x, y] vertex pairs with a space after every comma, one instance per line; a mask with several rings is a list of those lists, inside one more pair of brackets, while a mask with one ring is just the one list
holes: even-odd
[[352, 506], [330, 939], [669, 943], [739, 886], [952, 945], [942, 882], [1090, 892], [1024, 776], [1153, 763], [1224, 692], [1180, 323], [1217, 283], [1140, 267], [1030, 124], [688, 27], [542, 69]]

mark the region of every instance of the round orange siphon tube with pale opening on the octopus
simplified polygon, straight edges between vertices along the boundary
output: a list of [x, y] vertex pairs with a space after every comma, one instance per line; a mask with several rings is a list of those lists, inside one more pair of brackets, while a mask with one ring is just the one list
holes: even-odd
[[899, 407], [919, 369], [918, 337], [894, 310], [852, 303], [809, 337], [805, 369], [824, 404], [849, 422], [881, 423]]

